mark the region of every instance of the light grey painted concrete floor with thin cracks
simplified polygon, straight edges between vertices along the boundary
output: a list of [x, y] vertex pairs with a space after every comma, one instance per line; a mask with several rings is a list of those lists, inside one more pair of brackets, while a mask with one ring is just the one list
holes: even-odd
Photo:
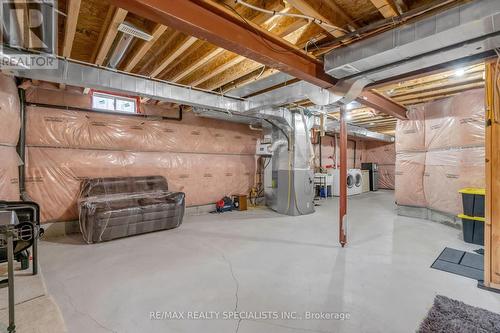
[[[188, 216], [176, 230], [101, 244], [46, 240], [41, 266], [72, 333], [412, 332], [437, 294], [500, 312], [499, 294], [429, 268], [445, 246], [477, 247], [459, 230], [397, 216], [393, 202], [390, 191], [351, 198], [345, 249], [330, 199], [308, 216], [252, 209]], [[295, 319], [150, 319], [157, 311], [234, 310]], [[306, 312], [349, 319], [308, 320]]]

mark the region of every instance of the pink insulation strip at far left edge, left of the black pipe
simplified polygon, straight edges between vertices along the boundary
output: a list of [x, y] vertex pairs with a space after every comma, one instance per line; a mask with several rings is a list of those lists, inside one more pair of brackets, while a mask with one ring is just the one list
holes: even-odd
[[0, 74], [0, 200], [19, 200], [20, 104], [14, 79]]

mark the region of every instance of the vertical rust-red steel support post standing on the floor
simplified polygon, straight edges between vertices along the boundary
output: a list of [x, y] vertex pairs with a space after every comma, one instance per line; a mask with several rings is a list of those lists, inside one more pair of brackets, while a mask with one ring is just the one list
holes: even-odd
[[346, 107], [340, 107], [340, 171], [339, 171], [339, 242], [342, 247], [347, 244], [345, 232], [347, 223], [347, 124]]

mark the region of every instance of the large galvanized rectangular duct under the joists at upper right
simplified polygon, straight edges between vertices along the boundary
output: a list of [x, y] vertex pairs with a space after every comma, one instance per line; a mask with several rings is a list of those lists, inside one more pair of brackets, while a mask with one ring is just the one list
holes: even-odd
[[[325, 56], [325, 72], [337, 79], [355, 77], [498, 32], [500, 1], [474, 1], [335, 49]], [[461, 52], [461, 57], [468, 55]]]

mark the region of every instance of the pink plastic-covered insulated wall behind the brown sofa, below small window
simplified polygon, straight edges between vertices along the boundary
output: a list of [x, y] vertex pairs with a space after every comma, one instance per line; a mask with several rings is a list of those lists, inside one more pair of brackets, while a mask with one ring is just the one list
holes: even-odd
[[[30, 102], [38, 102], [40, 90]], [[246, 125], [191, 112], [182, 121], [35, 105], [26, 112], [26, 190], [42, 206], [44, 222], [77, 219], [83, 178], [165, 176], [169, 190], [186, 193], [188, 206], [254, 186], [260, 132]]]

